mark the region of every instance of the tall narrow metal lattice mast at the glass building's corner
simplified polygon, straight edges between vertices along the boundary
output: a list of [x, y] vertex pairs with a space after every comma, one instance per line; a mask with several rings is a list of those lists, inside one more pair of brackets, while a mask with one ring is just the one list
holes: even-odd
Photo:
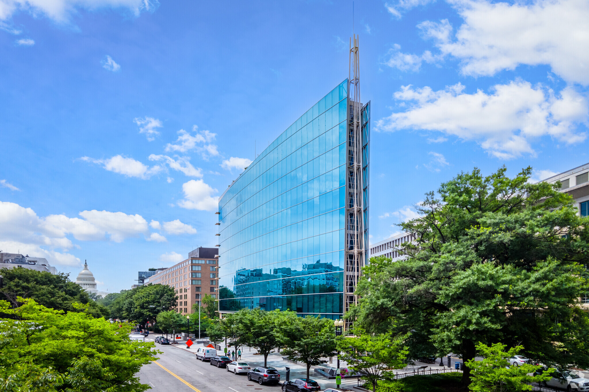
[[[358, 304], [354, 295], [360, 272], [365, 263], [364, 213], [362, 190], [362, 103], [360, 101], [360, 59], [358, 36], [350, 38], [348, 77], [348, 161], [346, 182], [346, 268], [343, 289], [343, 310]], [[350, 327], [346, 320], [345, 329]]]

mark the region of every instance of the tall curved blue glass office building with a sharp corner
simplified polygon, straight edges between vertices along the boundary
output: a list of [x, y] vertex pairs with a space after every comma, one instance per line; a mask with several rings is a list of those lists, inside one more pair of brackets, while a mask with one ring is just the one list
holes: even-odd
[[370, 104], [350, 100], [349, 88], [346, 79], [307, 110], [220, 197], [221, 313], [342, 317], [346, 258], [358, 244], [362, 265], [368, 257]]

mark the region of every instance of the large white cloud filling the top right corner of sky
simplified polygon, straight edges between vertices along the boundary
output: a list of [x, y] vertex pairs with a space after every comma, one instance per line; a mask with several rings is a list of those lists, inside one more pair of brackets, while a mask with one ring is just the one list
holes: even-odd
[[[448, 0], [464, 23], [455, 39], [447, 20], [421, 25], [442, 55], [460, 59], [465, 75], [494, 75], [520, 64], [548, 65], [571, 83], [589, 84], [589, 2]], [[451, 27], [450, 27], [451, 29]]]

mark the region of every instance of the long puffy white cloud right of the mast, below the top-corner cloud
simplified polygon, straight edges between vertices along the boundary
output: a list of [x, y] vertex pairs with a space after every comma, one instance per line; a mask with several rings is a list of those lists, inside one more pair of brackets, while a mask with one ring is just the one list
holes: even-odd
[[501, 159], [523, 153], [534, 155], [530, 143], [551, 136], [565, 143], [585, 139], [576, 125], [586, 122], [587, 100], [567, 87], [557, 96], [541, 85], [525, 81], [495, 85], [494, 93], [467, 94], [460, 83], [445, 90], [402, 86], [395, 98], [412, 102], [405, 112], [393, 113], [376, 123], [381, 130], [438, 130], [463, 140], [475, 140], [482, 148]]

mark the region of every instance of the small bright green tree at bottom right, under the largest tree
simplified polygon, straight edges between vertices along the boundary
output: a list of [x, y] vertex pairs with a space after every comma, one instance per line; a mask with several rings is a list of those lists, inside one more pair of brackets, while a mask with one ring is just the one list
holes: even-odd
[[521, 366], [509, 366], [509, 358], [524, 349], [522, 346], [512, 347], [507, 352], [505, 344], [495, 343], [491, 347], [479, 343], [477, 351], [484, 359], [467, 361], [465, 364], [471, 369], [472, 383], [469, 389], [473, 392], [515, 392], [531, 391], [532, 386], [523, 383], [541, 383], [550, 380], [550, 374], [554, 368], [544, 370], [537, 376], [528, 376], [541, 366], [524, 364]]

